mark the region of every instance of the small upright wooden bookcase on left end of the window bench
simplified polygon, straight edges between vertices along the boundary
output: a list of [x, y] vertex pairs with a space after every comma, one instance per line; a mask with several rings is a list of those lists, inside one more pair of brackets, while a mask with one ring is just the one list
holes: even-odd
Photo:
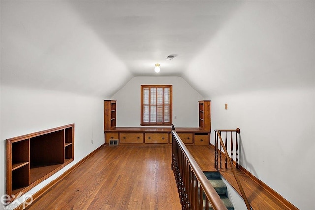
[[104, 130], [116, 127], [116, 101], [104, 100]]

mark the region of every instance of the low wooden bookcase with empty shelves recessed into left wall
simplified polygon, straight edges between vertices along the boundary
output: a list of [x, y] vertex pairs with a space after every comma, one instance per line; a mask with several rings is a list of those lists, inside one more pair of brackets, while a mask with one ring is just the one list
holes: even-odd
[[21, 196], [74, 160], [74, 124], [6, 140], [6, 194]]

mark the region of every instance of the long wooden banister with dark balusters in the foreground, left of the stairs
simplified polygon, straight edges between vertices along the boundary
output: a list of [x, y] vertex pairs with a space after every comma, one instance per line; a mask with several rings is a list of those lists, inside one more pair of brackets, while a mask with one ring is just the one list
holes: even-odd
[[175, 130], [172, 130], [172, 170], [183, 210], [208, 210], [209, 203], [214, 210], [227, 210]]

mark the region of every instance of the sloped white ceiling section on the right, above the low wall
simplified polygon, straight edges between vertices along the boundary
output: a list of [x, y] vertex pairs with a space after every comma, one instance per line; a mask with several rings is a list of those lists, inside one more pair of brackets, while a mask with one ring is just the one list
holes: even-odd
[[238, 2], [183, 78], [204, 97], [314, 86], [315, 1]]

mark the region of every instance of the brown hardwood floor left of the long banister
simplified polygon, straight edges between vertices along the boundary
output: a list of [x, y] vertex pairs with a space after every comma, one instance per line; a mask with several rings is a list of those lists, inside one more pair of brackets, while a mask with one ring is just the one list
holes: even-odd
[[180, 210], [171, 146], [104, 146], [29, 210]]

